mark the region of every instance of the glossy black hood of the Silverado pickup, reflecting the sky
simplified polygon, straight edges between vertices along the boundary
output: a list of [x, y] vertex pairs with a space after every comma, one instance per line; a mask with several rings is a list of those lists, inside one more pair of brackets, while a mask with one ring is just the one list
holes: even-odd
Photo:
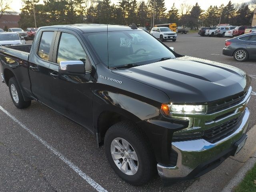
[[162, 90], [171, 102], [181, 103], [222, 99], [250, 84], [250, 78], [238, 68], [189, 56], [113, 72]]

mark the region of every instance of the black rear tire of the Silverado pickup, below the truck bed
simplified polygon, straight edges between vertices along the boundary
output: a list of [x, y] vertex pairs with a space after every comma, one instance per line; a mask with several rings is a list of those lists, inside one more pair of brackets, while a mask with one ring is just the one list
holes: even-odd
[[[25, 101], [24, 100], [23, 95], [22, 95], [21, 90], [20, 90], [20, 86], [18, 85], [18, 82], [17, 82], [15, 77], [10, 78], [10, 80], [8, 82], [8, 85], [9, 85], [10, 96], [12, 98], [12, 102], [14, 103], [14, 105], [19, 109], [29, 107], [30, 104], [31, 104], [31, 101]], [[16, 100], [16, 101], [14, 100], [15, 97], [12, 95], [12, 87], [13, 86], [17, 91], [15, 94], [18, 96], [18, 100]]]

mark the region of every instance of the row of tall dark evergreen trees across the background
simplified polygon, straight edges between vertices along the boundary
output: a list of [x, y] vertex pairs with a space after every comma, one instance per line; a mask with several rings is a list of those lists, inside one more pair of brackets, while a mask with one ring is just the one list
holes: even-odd
[[[155, 0], [155, 24], [177, 23], [177, 26], [198, 28], [230, 24], [250, 25], [253, 17], [252, 4], [241, 3], [210, 6], [202, 10], [200, 5], [182, 3], [179, 8], [172, 4], [167, 10], [164, 0]], [[22, 0], [19, 25], [21, 28], [34, 26], [32, 0]], [[152, 25], [154, 0], [34, 0], [37, 26], [55, 24], [98, 23], [121, 24], [135, 23], [150, 28]]]

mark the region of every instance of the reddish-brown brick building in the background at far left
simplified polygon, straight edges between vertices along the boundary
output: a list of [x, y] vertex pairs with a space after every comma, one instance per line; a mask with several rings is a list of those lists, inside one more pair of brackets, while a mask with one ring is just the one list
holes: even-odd
[[18, 28], [19, 20], [20, 16], [18, 12], [10, 12], [9, 14], [3, 14], [2, 17], [0, 18], [0, 28], [4, 29], [4, 26], [7, 26], [7, 28]]

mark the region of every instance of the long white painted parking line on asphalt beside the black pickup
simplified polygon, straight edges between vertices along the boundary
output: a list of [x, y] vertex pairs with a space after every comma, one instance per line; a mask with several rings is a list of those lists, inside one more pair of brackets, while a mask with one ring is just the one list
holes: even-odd
[[70, 160], [68, 160], [65, 156], [63, 156], [58, 150], [50, 146], [46, 141], [44, 141], [42, 138], [37, 136], [34, 132], [32, 132], [29, 128], [27, 128], [24, 124], [22, 124], [18, 119], [16, 119], [14, 116], [12, 116], [8, 111], [6, 111], [2, 106], [0, 106], [0, 110], [4, 112], [6, 115], [8, 115], [14, 122], [18, 123], [24, 130], [29, 132], [36, 140], [38, 140], [40, 143], [42, 143], [44, 146], [46, 146], [52, 153], [54, 153], [56, 156], [58, 156], [64, 163], [66, 163], [70, 168], [72, 168], [78, 175], [80, 175], [88, 184], [90, 184], [94, 189], [96, 189], [98, 192], [108, 192], [106, 189], [104, 189], [100, 184], [95, 182], [92, 178], [87, 176], [80, 168], [78, 168], [76, 165], [74, 165]]

